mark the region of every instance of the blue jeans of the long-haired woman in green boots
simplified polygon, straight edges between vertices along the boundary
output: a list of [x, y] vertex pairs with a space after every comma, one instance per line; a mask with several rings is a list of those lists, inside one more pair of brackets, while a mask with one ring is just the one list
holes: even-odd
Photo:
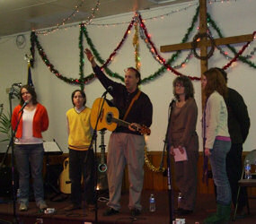
[[231, 142], [215, 140], [209, 156], [213, 178], [216, 185], [216, 202], [221, 205], [230, 205], [231, 188], [226, 175], [225, 158], [230, 150]]

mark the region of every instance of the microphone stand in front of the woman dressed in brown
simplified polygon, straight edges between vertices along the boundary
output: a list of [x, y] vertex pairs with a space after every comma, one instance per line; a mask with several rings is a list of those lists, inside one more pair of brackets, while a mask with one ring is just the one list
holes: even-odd
[[[170, 157], [170, 147], [168, 142], [168, 135], [169, 135], [169, 127], [171, 124], [171, 117], [172, 117], [172, 105], [173, 102], [171, 102], [169, 106], [169, 117], [168, 117], [168, 124], [167, 124], [167, 130], [165, 134], [165, 140], [163, 145], [163, 151], [164, 149], [167, 151], [167, 186], [168, 186], [168, 198], [169, 198], [169, 223], [172, 224], [173, 218], [173, 194], [172, 194], [172, 166], [171, 166], [171, 157]], [[171, 112], [170, 112], [171, 109]]]

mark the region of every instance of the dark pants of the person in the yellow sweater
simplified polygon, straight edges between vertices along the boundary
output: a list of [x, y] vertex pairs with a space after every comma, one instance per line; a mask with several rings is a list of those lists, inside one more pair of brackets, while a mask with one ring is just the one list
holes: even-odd
[[[86, 161], [84, 161], [86, 159]], [[94, 194], [94, 155], [93, 150], [75, 151], [69, 149], [69, 177], [71, 180], [71, 202], [81, 205], [82, 175], [84, 177], [84, 195], [88, 204], [95, 203]]]

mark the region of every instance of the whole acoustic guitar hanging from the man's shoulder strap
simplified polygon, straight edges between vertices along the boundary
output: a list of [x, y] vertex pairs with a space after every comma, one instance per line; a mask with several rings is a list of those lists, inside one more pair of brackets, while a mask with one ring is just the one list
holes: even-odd
[[[101, 115], [100, 111], [102, 110]], [[102, 130], [103, 128], [108, 129], [109, 131], [114, 131], [118, 125], [126, 126], [131, 125], [130, 123], [119, 119], [119, 110], [115, 107], [110, 107], [108, 102], [105, 99], [98, 98], [93, 102], [93, 108], [91, 111], [91, 125], [95, 128], [97, 123], [97, 118], [99, 116], [99, 121], [97, 125], [97, 130]], [[140, 134], [151, 133], [150, 129], [146, 125], [142, 125], [140, 128], [137, 126], [132, 126]]]

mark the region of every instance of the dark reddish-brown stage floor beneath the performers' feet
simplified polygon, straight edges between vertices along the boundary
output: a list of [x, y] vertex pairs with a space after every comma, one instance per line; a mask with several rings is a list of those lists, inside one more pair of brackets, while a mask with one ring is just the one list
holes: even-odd
[[[149, 205], [149, 195], [154, 194], [156, 201], [156, 211], [151, 213], [148, 211]], [[176, 195], [176, 193], [174, 193]], [[105, 195], [100, 195], [105, 196]], [[54, 199], [62, 199], [65, 198], [65, 195], [58, 195]], [[176, 198], [174, 196], [174, 198]], [[100, 197], [99, 199], [104, 199], [104, 197]], [[88, 211], [85, 208], [78, 211], [66, 212], [64, 208], [69, 204], [68, 199], [62, 202], [52, 202], [47, 200], [49, 208], [55, 208], [56, 212], [50, 214], [44, 214], [39, 211], [39, 209], [35, 206], [35, 202], [30, 202], [29, 211], [19, 211], [17, 205], [17, 218], [19, 220], [18, 223], [22, 224], [35, 224], [35, 223], [44, 223], [44, 224], [85, 224], [85, 223], [96, 223], [95, 222], [95, 212]], [[144, 191], [142, 194], [142, 205], [143, 211], [142, 214], [137, 216], [137, 218], [133, 218], [130, 215], [128, 210], [128, 193], [122, 194], [121, 197], [121, 210], [119, 214], [104, 217], [102, 216], [103, 211], [105, 211], [106, 202], [98, 202], [98, 215], [97, 220], [98, 223], [115, 223], [115, 224], [126, 224], [126, 223], [137, 223], [137, 224], [168, 224], [169, 220], [169, 201], [168, 201], [168, 193], [167, 192], [157, 192], [157, 191]], [[174, 201], [174, 205], [176, 206], [176, 202]], [[256, 223], [256, 200], [250, 200], [251, 214], [247, 215], [243, 219], [238, 219], [235, 222], [230, 223], [243, 223], [243, 224], [251, 224]], [[197, 197], [197, 204], [195, 211], [184, 217], [176, 217], [185, 219], [186, 223], [202, 223], [207, 215], [211, 212], [214, 212], [216, 209], [215, 204], [215, 196], [213, 194], [199, 194]], [[0, 223], [13, 223], [13, 203], [1, 201], [0, 204]]]

